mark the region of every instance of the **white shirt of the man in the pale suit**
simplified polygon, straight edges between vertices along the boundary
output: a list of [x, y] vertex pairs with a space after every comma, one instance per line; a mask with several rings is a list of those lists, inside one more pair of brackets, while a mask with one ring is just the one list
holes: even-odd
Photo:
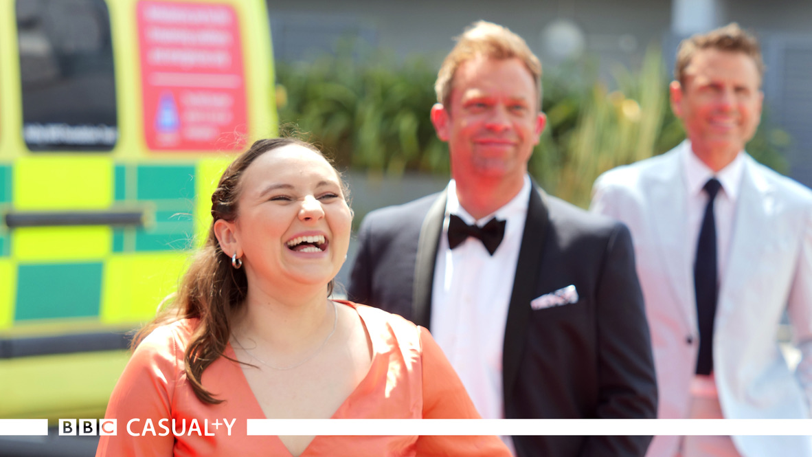
[[[693, 153], [689, 141], [685, 141], [680, 154], [685, 167], [685, 186], [688, 191], [689, 246], [693, 249], [691, 257], [694, 259], [697, 255], [699, 231], [702, 228], [702, 219], [705, 217], [705, 207], [708, 202], [708, 195], [702, 188], [711, 178], [719, 179], [719, 183], [722, 183], [714, 201], [717, 280], [721, 283], [730, 258], [730, 240], [733, 237], [733, 221], [736, 218], [736, 200], [741, 188], [741, 177], [745, 170], [745, 156], [742, 152], [738, 153], [733, 162], [714, 173]], [[716, 396], [713, 373], [710, 376], [695, 377], [691, 393], [700, 397]]]

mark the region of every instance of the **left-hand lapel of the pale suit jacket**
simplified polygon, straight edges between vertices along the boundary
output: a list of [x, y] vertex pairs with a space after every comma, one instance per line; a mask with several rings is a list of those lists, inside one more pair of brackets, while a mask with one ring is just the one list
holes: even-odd
[[693, 293], [693, 254], [695, 247], [689, 246], [688, 225], [685, 214], [688, 213], [687, 190], [685, 189], [685, 170], [680, 160], [680, 148], [689, 147], [683, 142], [664, 156], [659, 168], [660, 173], [653, 175], [647, 184], [650, 195], [651, 224], [654, 227], [656, 244], [665, 264], [667, 274], [672, 281], [669, 285], [676, 296], [676, 306], [680, 315], [691, 330], [696, 330], [696, 298]]

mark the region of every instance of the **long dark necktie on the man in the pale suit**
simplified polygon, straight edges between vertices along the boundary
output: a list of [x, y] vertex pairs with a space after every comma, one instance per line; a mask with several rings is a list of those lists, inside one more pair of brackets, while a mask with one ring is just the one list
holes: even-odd
[[693, 285], [697, 294], [697, 317], [699, 323], [699, 356], [697, 374], [713, 372], [713, 323], [716, 316], [716, 298], [718, 282], [716, 273], [716, 221], [713, 212], [713, 201], [722, 184], [715, 178], [708, 179], [705, 192], [708, 204], [705, 207], [705, 218], [699, 230], [697, 243], [697, 261], [693, 265]]

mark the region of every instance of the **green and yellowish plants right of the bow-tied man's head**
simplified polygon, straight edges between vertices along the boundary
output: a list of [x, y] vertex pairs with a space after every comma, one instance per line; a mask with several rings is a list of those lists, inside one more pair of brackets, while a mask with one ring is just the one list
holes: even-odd
[[[592, 183], [604, 171], [664, 153], [685, 139], [671, 110], [670, 78], [656, 46], [646, 50], [639, 70], [615, 68], [617, 90], [611, 93], [596, 73], [589, 60], [548, 71], [544, 87], [559, 93], [550, 100], [545, 96], [549, 127], [529, 164], [547, 192], [582, 207], [590, 204]], [[572, 75], [581, 76], [573, 83]], [[747, 151], [784, 172], [781, 151], [787, 145], [787, 133], [769, 127], [765, 115]]]

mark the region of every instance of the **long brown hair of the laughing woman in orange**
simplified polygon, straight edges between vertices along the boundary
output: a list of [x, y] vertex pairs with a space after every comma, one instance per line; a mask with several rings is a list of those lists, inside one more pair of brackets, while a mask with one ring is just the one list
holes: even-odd
[[[315, 146], [295, 138], [258, 140], [231, 162], [223, 172], [217, 189], [211, 196], [212, 222], [203, 248], [184, 274], [178, 292], [170, 304], [162, 308], [152, 321], [138, 331], [132, 340], [132, 349], [159, 326], [180, 319], [196, 317], [200, 321], [189, 340], [184, 354], [186, 377], [197, 398], [204, 403], [222, 403], [214, 398], [201, 383], [203, 371], [223, 356], [231, 336], [231, 319], [244, 306], [248, 294], [248, 279], [244, 269], [231, 266], [231, 257], [222, 252], [214, 235], [214, 222], [218, 219], [233, 221], [237, 217], [240, 183], [245, 170], [263, 153], [288, 144], [298, 144], [322, 155]], [[322, 155], [323, 157], [323, 155]], [[338, 172], [336, 172], [337, 175]], [[339, 175], [339, 179], [340, 175]], [[342, 183], [343, 186], [343, 183]], [[346, 196], [346, 193], [345, 193]], [[330, 295], [333, 282], [327, 287]]]

